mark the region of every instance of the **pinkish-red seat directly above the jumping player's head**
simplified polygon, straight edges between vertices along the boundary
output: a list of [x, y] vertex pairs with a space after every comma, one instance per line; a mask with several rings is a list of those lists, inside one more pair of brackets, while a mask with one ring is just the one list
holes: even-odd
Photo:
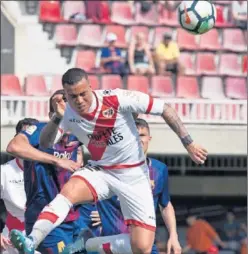
[[76, 67], [91, 72], [96, 67], [96, 53], [93, 50], [81, 50], [77, 52]]

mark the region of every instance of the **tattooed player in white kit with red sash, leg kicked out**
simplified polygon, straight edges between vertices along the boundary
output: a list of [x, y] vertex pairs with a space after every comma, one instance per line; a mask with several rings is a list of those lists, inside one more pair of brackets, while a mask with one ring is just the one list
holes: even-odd
[[23, 253], [35, 248], [66, 217], [76, 203], [87, 203], [117, 195], [134, 253], [150, 253], [156, 219], [148, 167], [132, 113], [161, 115], [181, 139], [196, 163], [204, 163], [207, 151], [196, 145], [176, 111], [147, 94], [121, 89], [92, 91], [87, 73], [78, 68], [62, 77], [68, 100], [42, 130], [44, 148], [71, 131], [91, 153], [89, 165], [73, 174], [61, 193], [43, 209], [29, 237], [13, 230], [11, 240]]

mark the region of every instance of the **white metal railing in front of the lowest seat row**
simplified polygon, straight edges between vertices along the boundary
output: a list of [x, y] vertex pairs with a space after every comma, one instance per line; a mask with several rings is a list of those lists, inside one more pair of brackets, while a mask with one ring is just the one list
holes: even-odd
[[[24, 117], [48, 120], [49, 97], [1, 96], [1, 125], [16, 124]], [[246, 100], [165, 99], [174, 107], [184, 123], [247, 124]], [[162, 123], [159, 116], [142, 116], [151, 123]]]

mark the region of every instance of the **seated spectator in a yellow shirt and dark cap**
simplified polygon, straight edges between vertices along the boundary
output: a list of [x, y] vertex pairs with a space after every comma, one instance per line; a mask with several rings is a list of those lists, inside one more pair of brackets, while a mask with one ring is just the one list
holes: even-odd
[[180, 50], [176, 42], [172, 41], [170, 33], [165, 33], [163, 41], [156, 48], [156, 63], [160, 75], [166, 72], [182, 75], [184, 67], [179, 62]]

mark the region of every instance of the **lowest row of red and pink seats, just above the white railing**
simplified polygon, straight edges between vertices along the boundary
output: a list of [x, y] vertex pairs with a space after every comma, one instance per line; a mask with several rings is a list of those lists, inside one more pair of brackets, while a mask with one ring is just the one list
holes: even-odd
[[[224, 86], [220, 77], [203, 77], [200, 84], [198, 81], [193, 76], [180, 76], [175, 89], [171, 78], [167, 76], [153, 76], [151, 79], [145, 76], [128, 76], [126, 87], [129, 90], [151, 93], [155, 97], [247, 99], [245, 78], [228, 77]], [[93, 89], [124, 88], [118, 75], [103, 75], [101, 78], [90, 75], [89, 82]], [[50, 91], [47, 90], [43, 76], [28, 76], [23, 91], [16, 76], [1, 75], [1, 95], [48, 96], [61, 88], [61, 76], [53, 77]]]

